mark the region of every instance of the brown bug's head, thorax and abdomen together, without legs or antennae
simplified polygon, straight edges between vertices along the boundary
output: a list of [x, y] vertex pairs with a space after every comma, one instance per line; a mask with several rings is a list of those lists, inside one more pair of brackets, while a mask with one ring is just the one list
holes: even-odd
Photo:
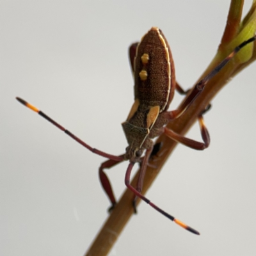
[[135, 101], [122, 124], [129, 144], [125, 159], [139, 161], [143, 150], [152, 147], [150, 138], [157, 136], [152, 127], [159, 114], [168, 109], [174, 83], [170, 47], [161, 30], [152, 28], [141, 39], [134, 58]]

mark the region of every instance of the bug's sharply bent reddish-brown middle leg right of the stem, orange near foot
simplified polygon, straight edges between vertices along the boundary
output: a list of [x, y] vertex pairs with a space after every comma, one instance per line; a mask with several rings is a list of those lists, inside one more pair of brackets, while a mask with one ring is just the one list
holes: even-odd
[[200, 125], [200, 132], [201, 132], [201, 136], [202, 136], [202, 139], [203, 139], [204, 143], [186, 138], [186, 137], [184, 137], [180, 134], [177, 134], [176, 132], [173, 132], [172, 130], [170, 130], [166, 127], [163, 128], [164, 133], [166, 134], [166, 136], [168, 136], [172, 140], [175, 140], [179, 143], [182, 143], [183, 145], [186, 145], [187, 147], [194, 148], [194, 149], [197, 149], [197, 150], [204, 150], [205, 148], [209, 147], [210, 135], [209, 135], [209, 132], [207, 130], [207, 127], [204, 124], [203, 114], [206, 111], [208, 111], [210, 109], [210, 107], [211, 107], [211, 105], [207, 106], [207, 108], [204, 111], [202, 111], [200, 113], [200, 115], [198, 116], [198, 121], [199, 121], [199, 125]]

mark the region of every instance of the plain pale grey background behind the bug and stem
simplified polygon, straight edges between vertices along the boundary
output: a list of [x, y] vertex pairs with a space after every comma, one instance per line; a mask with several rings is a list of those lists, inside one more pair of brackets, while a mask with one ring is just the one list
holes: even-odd
[[[127, 48], [158, 26], [189, 88], [220, 42], [230, 1], [1, 1], [1, 255], [83, 255], [108, 217], [104, 161], [21, 106], [23, 97], [111, 154], [133, 101]], [[248, 10], [251, 1], [246, 1]], [[256, 255], [255, 63], [205, 116], [211, 147], [182, 145], [109, 255]], [[170, 109], [182, 97], [175, 95]], [[200, 140], [198, 124], [188, 136]], [[116, 196], [127, 163], [108, 171]]]

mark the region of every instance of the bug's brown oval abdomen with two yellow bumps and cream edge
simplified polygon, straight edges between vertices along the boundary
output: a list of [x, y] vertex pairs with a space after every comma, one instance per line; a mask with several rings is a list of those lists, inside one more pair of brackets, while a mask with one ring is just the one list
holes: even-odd
[[173, 96], [175, 72], [170, 47], [158, 28], [141, 39], [134, 59], [135, 99], [146, 106], [167, 109]]

